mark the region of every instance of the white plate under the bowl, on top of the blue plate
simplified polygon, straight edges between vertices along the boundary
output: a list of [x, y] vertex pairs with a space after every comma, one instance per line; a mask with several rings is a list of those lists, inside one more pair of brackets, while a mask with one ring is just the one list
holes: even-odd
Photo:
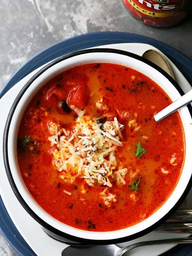
[[[149, 49], [156, 49], [155, 47], [149, 44], [139, 44], [139, 43], [124, 43], [124, 44], [110, 44], [110, 45], [101, 45], [94, 48], [114, 48], [120, 49], [124, 51], [129, 51], [136, 53], [138, 55], [142, 55], [143, 52]], [[157, 50], [157, 49], [156, 49]], [[175, 80], [178, 82], [180, 87], [186, 93], [191, 89], [190, 84], [185, 79], [185, 77], [181, 74], [178, 68], [165, 56], [165, 58], [169, 61], [171, 68], [173, 70]], [[46, 65], [46, 64], [45, 64]], [[44, 65], [43, 65], [44, 66]], [[42, 66], [42, 67], [43, 67]], [[0, 100], [0, 109], [3, 109], [0, 113], [0, 147], [2, 148], [3, 144], [3, 131], [4, 125], [6, 122], [7, 115], [12, 106], [12, 103], [19, 93], [20, 89], [25, 85], [25, 83], [32, 77], [37, 70], [41, 69], [37, 68], [29, 75], [21, 79], [15, 86], [13, 86]], [[3, 164], [3, 153], [0, 152], [0, 194], [4, 205], [6, 207], [7, 212], [9, 213], [14, 225], [19, 230], [21, 236], [26, 240], [32, 250], [38, 256], [61, 256], [61, 252], [64, 248], [67, 247], [66, 244], [63, 244], [59, 241], [52, 239], [47, 236], [41, 226], [24, 210], [24, 208], [20, 205], [19, 201], [15, 197], [12, 188], [10, 187], [9, 181], [7, 179], [4, 164]], [[192, 209], [192, 190], [188, 195], [188, 203], [189, 208]], [[146, 236], [141, 238], [132, 240], [131, 242], [123, 243], [121, 246], [126, 246], [128, 244], [132, 244], [139, 241], [145, 240], [154, 240], [154, 239], [165, 239], [165, 238], [175, 238], [175, 237], [186, 237], [188, 234], [171, 234], [171, 233], [154, 233], [151, 232]], [[156, 246], [147, 246], [134, 249], [129, 252], [129, 255], [132, 256], [157, 256], [167, 250], [171, 249], [174, 245], [156, 245]]]

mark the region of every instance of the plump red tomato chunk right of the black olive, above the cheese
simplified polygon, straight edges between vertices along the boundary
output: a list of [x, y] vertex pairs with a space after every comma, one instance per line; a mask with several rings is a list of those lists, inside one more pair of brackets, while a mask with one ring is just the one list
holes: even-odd
[[76, 108], [83, 109], [88, 100], [88, 93], [83, 84], [78, 85], [75, 90], [69, 92], [67, 98], [68, 106], [74, 105]]

